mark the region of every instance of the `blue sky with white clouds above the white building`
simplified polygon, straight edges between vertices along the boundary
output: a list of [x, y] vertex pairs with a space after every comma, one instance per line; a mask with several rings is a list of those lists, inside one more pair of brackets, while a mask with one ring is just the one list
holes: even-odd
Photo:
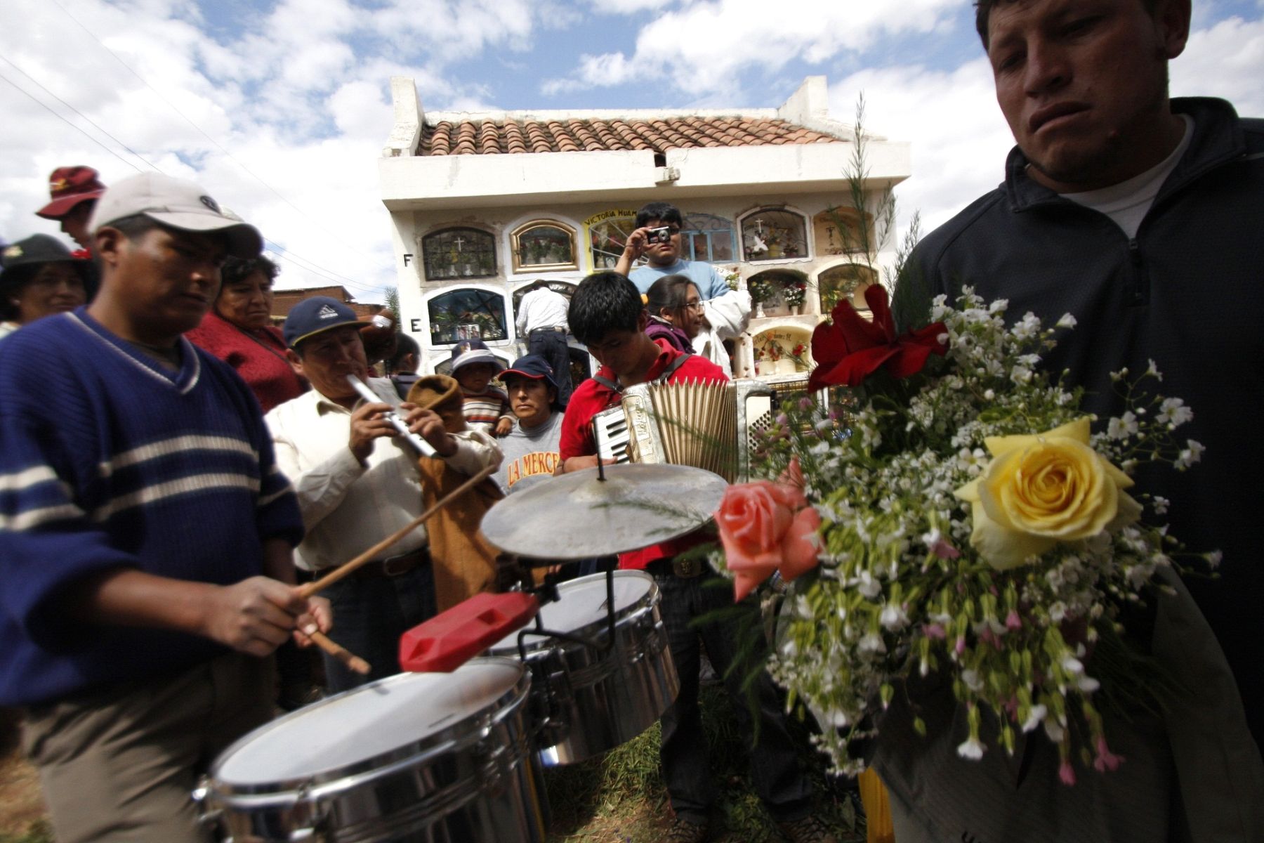
[[[761, 109], [806, 76], [911, 144], [901, 226], [1002, 178], [1012, 139], [968, 0], [0, 0], [0, 239], [58, 234], [48, 174], [191, 178], [254, 224], [278, 288], [396, 283], [377, 158], [389, 77], [422, 109]], [[1173, 96], [1264, 116], [1264, 0], [1194, 0]], [[73, 248], [70, 240], [67, 245]]]

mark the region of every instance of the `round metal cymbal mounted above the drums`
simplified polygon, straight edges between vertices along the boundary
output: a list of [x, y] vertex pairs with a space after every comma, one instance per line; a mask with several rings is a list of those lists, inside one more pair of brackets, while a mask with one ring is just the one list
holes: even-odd
[[498, 502], [483, 536], [511, 554], [584, 559], [684, 536], [719, 508], [728, 482], [689, 465], [607, 465], [549, 478]]

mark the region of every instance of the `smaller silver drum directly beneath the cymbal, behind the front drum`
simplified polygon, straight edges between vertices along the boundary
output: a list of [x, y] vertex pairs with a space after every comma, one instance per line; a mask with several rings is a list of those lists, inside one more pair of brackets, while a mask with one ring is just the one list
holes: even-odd
[[[680, 681], [659, 617], [659, 586], [643, 571], [614, 571], [614, 647], [609, 641], [605, 574], [557, 586], [560, 599], [540, 609], [545, 629], [592, 641], [546, 637], [528, 626], [533, 731], [545, 765], [584, 761], [653, 725], [676, 699]], [[517, 656], [518, 633], [492, 647]]]

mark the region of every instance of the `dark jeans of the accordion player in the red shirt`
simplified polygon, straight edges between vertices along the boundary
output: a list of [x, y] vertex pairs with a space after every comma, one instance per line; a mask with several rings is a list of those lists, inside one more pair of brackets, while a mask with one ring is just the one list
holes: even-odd
[[[667, 560], [653, 562], [647, 570], [653, 574], [662, 593], [659, 609], [667, 629], [671, 660], [680, 676], [680, 695], [661, 719], [662, 747], [659, 757], [662, 762], [662, 779], [676, 816], [705, 823], [717, 791], [707, 761], [707, 738], [698, 710], [699, 643], [707, 647], [715, 671], [724, 676], [737, 658], [742, 624], [737, 619], [724, 619], [700, 628], [690, 626], [694, 618], [708, 612], [732, 608], [733, 589], [727, 583], [718, 588], [713, 575], [676, 576], [670, 573]], [[712, 585], [708, 586], [708, 581]], [[755, 607], [750, 609], [752, 613], [757, 612]], [[756, 653], [755, 657], [762, 657], [762, 653]], [[724, 686], [733, 700], [739, 732], [753, 736], [755, 724], [751, 722], [747, 691], [741, 688], [743, 672], [737, 670], [733, 676], [726, 677]], [[756, 694], [760, 728], [758, 739], [751, 747], [755, 792], [779, 823], [801, 819], [811, 813], [811, 782], [799, 766], [794, 741], [786, 732], [781, 691], [767, 671], [762, 671], [756, 680]]]

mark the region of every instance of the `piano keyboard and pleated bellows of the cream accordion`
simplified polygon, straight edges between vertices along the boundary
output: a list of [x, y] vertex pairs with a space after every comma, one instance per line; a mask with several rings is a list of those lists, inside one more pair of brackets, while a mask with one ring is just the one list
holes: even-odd
[[631, 463], [691, 465], [729, 483], [738, 474], [738, 399], [733, 383], [642, 383], [623, 406], [594, 417], [598, 452]]

